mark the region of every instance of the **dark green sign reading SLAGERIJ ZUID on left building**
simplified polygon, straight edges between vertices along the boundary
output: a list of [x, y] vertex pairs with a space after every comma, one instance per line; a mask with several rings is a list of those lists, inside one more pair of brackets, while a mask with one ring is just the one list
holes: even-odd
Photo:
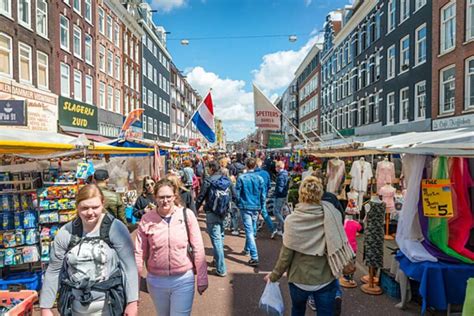
[[97, 131], [97, 117], [97, 107], [59, 97], [60, 125]]

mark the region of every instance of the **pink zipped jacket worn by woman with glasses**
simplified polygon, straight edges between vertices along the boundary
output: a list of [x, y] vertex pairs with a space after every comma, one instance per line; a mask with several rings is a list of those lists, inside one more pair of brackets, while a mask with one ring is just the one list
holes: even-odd
[[[201, 230], [194, 213], [190, 210], [186, 212], [189, 240], [194, 250], [197, 285], [207, 285], [207, 263]], [[146, 213], [138, 224], [135, 240], [135, 261], [139, 274], [142, 275], [144, 263], [147, 271], [154, 275], [169, 276], [186, 273], [193, 268], [187, 246], [188, 239], [182, 208], [175, 211], [169, 224], [155, 211]]]

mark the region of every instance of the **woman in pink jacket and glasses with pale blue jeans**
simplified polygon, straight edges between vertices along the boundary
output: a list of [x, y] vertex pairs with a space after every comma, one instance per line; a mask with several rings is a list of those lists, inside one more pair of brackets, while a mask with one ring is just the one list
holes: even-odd
[[178, 206], [179, 190], [169, 180], [160, 180], [154, 195], [158, 206], [147, 212], [138, 225], [138, 271], [144, 276], [146, 265], [148, 291], [158, 315], [191, 315], [194, 275], [199, 294], [208, 285], [199, 224], [192, 211]]

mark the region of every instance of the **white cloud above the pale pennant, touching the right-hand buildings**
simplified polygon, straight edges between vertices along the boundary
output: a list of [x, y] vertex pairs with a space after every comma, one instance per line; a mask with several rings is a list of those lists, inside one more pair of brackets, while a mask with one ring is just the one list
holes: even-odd
[[294, 79], [295, 71], [315, 43], [321, 42], [322, 34], [313, 36], [299, 50], [270, 53], [262, 57], [259, 69], [252, 71], [255, 84], [270, 94], [286, 88]]

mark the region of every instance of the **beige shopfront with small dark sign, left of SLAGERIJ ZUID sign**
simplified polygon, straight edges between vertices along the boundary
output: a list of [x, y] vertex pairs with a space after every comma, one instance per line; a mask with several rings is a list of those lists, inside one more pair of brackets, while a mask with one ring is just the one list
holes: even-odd
[[0, 128], [57, 132], [58, 97], [55, 94], [0, 80]]

